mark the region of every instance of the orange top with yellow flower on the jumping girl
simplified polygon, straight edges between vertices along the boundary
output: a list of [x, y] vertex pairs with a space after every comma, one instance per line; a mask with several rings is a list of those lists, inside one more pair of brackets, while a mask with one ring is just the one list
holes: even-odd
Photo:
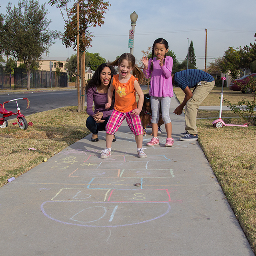
[[132, 111], [137, 108], [134, 81], [138, 81], [138, 78], [132, 75], [128, 82], [122, 84], [119, 82], [118, 76], [119, 74], [113, 76], [113, 86], [116, 91], [114, 109], [120, 112]]

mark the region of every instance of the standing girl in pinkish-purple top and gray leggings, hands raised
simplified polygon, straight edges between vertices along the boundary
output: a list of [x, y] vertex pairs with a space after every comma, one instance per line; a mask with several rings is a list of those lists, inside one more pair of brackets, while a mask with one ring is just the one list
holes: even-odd
[[[172, 89], [172, 57], [166, 56], [168, 52], [168, 42], [163, 38], [155, 40], [152, 46], [152, 57], [148, 60], [147, 57], [142, 57], [141, 61], [144, 64], [144, 74], [147, 78], [151, 76], [150, 96], [152, 108], [152, 132], [153, 138], [146, 146], [159, 145], [157, 138], [158, 120], [160, 103], [162, 104], [162, 118], [167, 132], [166, 147], [173, 145], [172, 138], [172, 122], [169, 115], [171, 97], [173, 96]], [[154, 57], [154, 55], [156, 57]]]

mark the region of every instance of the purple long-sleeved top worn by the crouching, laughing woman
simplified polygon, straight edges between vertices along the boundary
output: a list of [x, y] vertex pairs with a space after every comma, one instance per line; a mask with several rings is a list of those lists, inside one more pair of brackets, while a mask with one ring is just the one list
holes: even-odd
[[[109, 109], [105, 109], [105, 104], [108, 102], [108, 93], [99, 93], [97, 92], [96, 87], [91, 87], [87, 91], [86, 97], [86, 112], [89, 116], [93, 116], [97, 111], [102, 112], [102, 119], [110, 116], [113, 111], [113, 106]], [[92, 110], [92, 104], [94, 102], [94, 112]]]

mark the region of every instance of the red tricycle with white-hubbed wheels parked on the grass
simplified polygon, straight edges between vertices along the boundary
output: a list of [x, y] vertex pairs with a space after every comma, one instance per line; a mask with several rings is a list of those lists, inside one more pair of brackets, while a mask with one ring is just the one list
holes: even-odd
[[[15, 100], [16, 100], [16, 104], [17, 104], [17, 112], [13, 113], [12, 111], [7, 111], [4, 108], [4, 104], [6, 104], [8, 102], [15, 101]], [[8, 101], [4, 102], [3, 104], [0, 104], [0, 114], [3, 114], [3, 117], [0, 118], [0, 128], [5, 128], [5, 127], [8, 126], [8, 121], [6, 120], [6, 117], [8, 117], [8, 116], [15, 116], [15, 115], [18, 115], [17, 119], [18, 119], [18, 125], [20, 126], [20, 129], [26, 130], [26, 129], [28, 129], [28, 126], [32, 125], [32, 122], [27, 123], [24, 115], [21, 114], [17, 100], [27, 100], [27, 108], [29, 107], [29, 103], [30, 102], [29, 102], [29, 100], [27, 98], [18, 98], [18, 99], [14, 99], [14, 100], [8, 100]], [[17, 124], [17, 123], [14, 122], [12, 124]]]

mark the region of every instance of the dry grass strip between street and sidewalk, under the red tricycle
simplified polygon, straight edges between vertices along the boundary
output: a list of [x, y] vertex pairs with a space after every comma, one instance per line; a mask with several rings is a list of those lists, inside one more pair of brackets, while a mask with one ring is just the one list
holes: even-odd
[[87, 117], [77, 107], [65, 107], [26, 116], [27, 122], [33, 122], [28, 130], [9, 121], [8, 127], [0, 129], [0, 186], [88, 135]]

